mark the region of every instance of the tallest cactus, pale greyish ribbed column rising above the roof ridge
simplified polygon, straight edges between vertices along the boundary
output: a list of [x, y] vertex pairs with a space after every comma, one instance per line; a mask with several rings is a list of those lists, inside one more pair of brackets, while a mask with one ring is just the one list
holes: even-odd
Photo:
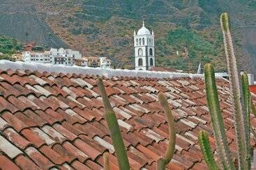
[[220, 25], [223, 31], [223, 41], [225, 46], [225, 54], [227, 58], [227, 70], [230, 78], [230, 89], [232, 101], [234, 103], [234, 121], [236, 130], [236, 145], [238, 148], [239, 169], [250, 169], [250, 153], [246, 146], [248, 137], [246, 129], [246, 114], [242, 107], [243, 101], [241, 98], [241, 90], [239, 87], [239, 75], [236, 68], [236, 58], [234, 56], [234, 48], [232, 43], [231, 33], [229, 31], [229, 19], [227, 13], [224, 12], [220, 16]]

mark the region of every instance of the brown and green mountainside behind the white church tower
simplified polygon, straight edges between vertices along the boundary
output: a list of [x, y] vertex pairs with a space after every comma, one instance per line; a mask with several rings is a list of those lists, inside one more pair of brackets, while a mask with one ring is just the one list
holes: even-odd
[[[144, 19], [156, 34], [157, 65], [193, 71], [199, 62], [209, 61], [225, 70], [218, 17], [227, 11], [240, 67], [252, 72], [256, 70], [256, 27], [250, 26], [256, 20], [254, 4], [255, 0], [36, 0], [34, 10], [59, 12], [40, 15], [41, 24], [50, 26], [68, 47], [84, 55], [107, 56], [120, 68], [133, 67], [133, 31]], [[174, 51], [184, 53], [185, 47], [190, 58], [176, 56]]]

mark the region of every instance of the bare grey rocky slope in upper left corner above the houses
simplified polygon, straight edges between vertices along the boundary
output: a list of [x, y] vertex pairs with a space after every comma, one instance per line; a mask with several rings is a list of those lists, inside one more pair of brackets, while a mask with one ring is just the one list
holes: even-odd
[[66, 46], [35, 8], [35, 1], [1, 0], [0, 33], [22, 42], [36, 42], [45, 46]]

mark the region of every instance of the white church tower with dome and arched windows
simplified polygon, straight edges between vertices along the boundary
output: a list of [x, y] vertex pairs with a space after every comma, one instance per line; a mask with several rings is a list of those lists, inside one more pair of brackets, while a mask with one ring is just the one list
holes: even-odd
[[137, 32], [134, 31], [135, 70], [149, 70], [155, 67], [155, 40], [153, 31], [144, 26]]

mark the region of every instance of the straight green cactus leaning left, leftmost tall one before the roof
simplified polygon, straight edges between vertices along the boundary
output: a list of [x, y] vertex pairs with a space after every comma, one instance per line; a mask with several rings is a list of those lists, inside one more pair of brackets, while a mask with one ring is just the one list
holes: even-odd
[[107, 121], [107, 126], [110, 130], [110, 136], [114, 145], [114, 151], [116, 153], [119, 168], [123, 170], [129, 170], [130, 165], [126, 154], [126, 147], [123, 143], [123, 138], [121, 136], [119, 124], [116, 119], [116, 114], [114, 114], [114, 111], [112, 110], [112, 106], [110, 105], [110, 101], [107, 97], [107, 93], [103, 85], [103, 80], [101, 78], [98, 78], [97, 85], [103, 98], [103, 103], [105, 107], [105, 119]]

